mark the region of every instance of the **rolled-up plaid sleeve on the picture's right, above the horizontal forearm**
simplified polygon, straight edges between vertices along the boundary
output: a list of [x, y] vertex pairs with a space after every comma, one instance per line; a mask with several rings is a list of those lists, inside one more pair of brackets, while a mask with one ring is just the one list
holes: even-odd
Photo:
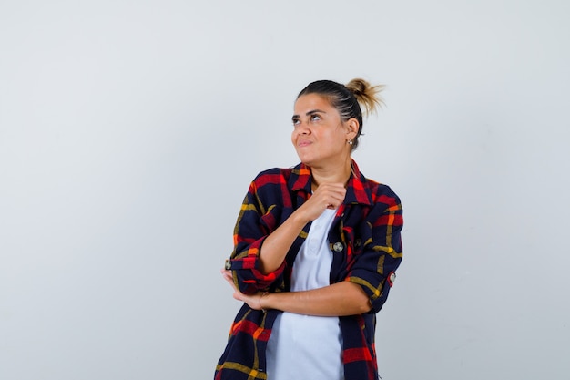
[[382, 309], [402, 262], [402, 225], [402, 204], [391, 193], [379, 197], [361, 228], [362, 252], [355, 255], [346, 281], [359, 284], [370, 297], [370, 313]]

